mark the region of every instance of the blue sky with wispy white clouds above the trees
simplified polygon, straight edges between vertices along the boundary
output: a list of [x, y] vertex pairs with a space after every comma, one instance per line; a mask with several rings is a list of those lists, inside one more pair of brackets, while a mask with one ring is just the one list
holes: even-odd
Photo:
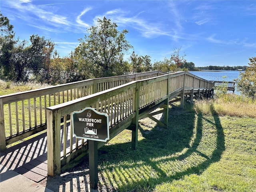
[[[195, 66], [244, 66], [256, 56], [255, 0], [1, 0], [15, 36], [51, 39], [69, 56], [87, 29], [104, 16], [127, 29], [136, 54], [154, 61], [174, 48]], [[88, 35], [88, 34], [87, 34]], [[133, 50], [130, 50], [130, 54]], [[127, 56], [128, 58], [128, 56]]]

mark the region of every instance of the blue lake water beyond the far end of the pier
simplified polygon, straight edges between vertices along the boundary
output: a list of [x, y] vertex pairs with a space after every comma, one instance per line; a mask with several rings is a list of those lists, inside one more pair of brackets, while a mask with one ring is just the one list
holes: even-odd
[[[193, 75], [196, 75], [200, 78], [203, 78], [209, 81], [223, 81], [223, 80], [234, 81], [234, 79], [237, 79], [240, 74], [240, 71], [225, 71], [225, 70], [223, 71], [202, 70], [202, 71], [189, 71], [189, 72]], [[223, 79], [223, 76], [226, 76], [226, 78]], [[240, 94], [239, 92], [237, 92], [236, 88], [235, 88], [235, 94]]]

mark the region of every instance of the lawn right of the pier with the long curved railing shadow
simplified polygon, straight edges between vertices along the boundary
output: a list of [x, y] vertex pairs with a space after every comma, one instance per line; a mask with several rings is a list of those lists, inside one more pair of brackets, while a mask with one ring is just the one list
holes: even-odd
[[100, 185], [121, 192], [255, 192], [256, 119], [218, 115], [212, 102], [203, 114], [197, 105], [170, 109], [167, 129], [141, 120], [138, 150], [128, 130], [102, 147]]

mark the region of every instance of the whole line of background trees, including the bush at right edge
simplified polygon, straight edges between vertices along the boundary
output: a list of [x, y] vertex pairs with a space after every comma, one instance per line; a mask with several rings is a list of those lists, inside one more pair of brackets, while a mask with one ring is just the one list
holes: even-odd
[[[29, 42], [15, 38], [9, 19], [0, 13], [0, 78], [56, 85], [150, 70], [172, 73], [178, 70], [242, 69], [245, 73], [241, 73], [237, 80], [240, 90], [245, 94], [250, 92], [250, 96], [256, 96], [255, 91], [253, 92], [256, 90], [255, 57], [250, 58], [249, 67], [195, 67], [193, 62], [186, 61], [186, 54], [180, 53], [180, 47], [173, 49], [170, 58], [155, 61], [153, 64], [150, 56], [140, 56], [134, 51], [129, 59], [125, 60], [124, 55], [127, 55], [133, 46], [126, 40], [128, 30], [118, 31], [117, 27], [110, 19], [98, 19], [96, 26], [88, 28], [88, 35], [79, 39], [79, 45], [70, 56], [61, 58], [54, 50], [54, 42], [44, 36], [32, 34]], [[246, 90], [242, 87], [246, 87]]]

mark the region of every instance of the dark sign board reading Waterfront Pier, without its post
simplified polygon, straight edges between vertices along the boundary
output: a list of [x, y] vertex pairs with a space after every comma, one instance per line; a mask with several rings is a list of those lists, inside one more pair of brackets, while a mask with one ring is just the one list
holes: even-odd
[[72, 112], [72, 126], [76, 138], [102, 142], [109, 140], [108, 115], [93, 108]]

